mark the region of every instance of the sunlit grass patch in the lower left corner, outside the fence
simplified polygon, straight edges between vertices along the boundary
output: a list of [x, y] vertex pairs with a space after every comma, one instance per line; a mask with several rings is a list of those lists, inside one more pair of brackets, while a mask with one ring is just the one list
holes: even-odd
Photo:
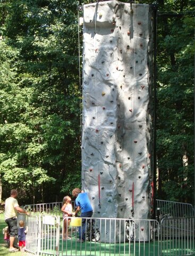
[[0, 255], [1, 256], [23, 256], [23, 255], [30, 255], [29, 253], [21, 253], [21, 252], [9, 252], [9, 248], [7, 247], [6, 242], [4, 241], [4, 235], [3, 235], [3, 228], [5, 228], [7, 225], [4, 221], [4, 214], [0, 214]]

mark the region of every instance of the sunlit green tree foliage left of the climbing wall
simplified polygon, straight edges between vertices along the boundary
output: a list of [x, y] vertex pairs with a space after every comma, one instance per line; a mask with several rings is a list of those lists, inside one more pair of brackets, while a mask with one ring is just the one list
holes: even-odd
[[6, 1], [0, 11], [3, 191], [53, 201], [73, 189], [71, 170], [80, 182], [77, 2]]

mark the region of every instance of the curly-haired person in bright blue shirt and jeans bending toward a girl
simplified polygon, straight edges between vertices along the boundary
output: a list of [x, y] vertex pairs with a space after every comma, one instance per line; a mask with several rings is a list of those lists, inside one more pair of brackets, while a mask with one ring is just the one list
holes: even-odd
[[[93, 209], [87, 193], [84, 193], [83, 191], [81, 191], [80, 188], [74, 188], [72, 190], [72, 195], [77, 197], [75, 200], [75, 203], [78, 207], [77, 207], [77, 210], [75, 211], [75, 215], [78, 213], [78, 211], [81, 210], [81, 215], [80, 215], [81, 217], [90, 218], [93, 214]], [[82, 230], [82, 234], [81, 234], [81, 230]], [[79, 228], [78, 242], [84, 242], [85, 233], [86, 233], [86, 219], [82, 219], [82, 229], [81, 227]]]

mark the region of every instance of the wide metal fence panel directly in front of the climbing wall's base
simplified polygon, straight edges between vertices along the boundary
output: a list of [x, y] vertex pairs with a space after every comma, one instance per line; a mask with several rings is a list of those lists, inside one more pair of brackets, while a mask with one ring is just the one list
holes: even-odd
[[[63, 220], [67, 222], [68, 218]], [[159, 223], [156, 220], [71, 218], [69, 239], [63, 240], [61, 255], [158, 256]], [[75, 224], [76, 222], [76, 224]], [[64, 227], [64, 224], [63, 224]], [[85, 230], [83, 241], [79, 229]]]

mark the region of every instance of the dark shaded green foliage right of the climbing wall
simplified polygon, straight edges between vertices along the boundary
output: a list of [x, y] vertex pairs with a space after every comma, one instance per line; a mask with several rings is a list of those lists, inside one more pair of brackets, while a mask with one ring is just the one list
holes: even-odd
[[[169, 1], [166, 10], [194, 11], [190, 4], [190, 1]], [[188, 203], [193, 203], [194, 175], [193, 34], [194, 17], [158, 19], [158, 197]], [[186, 166], [183, 166], [184, 155], [188, 157]]]

